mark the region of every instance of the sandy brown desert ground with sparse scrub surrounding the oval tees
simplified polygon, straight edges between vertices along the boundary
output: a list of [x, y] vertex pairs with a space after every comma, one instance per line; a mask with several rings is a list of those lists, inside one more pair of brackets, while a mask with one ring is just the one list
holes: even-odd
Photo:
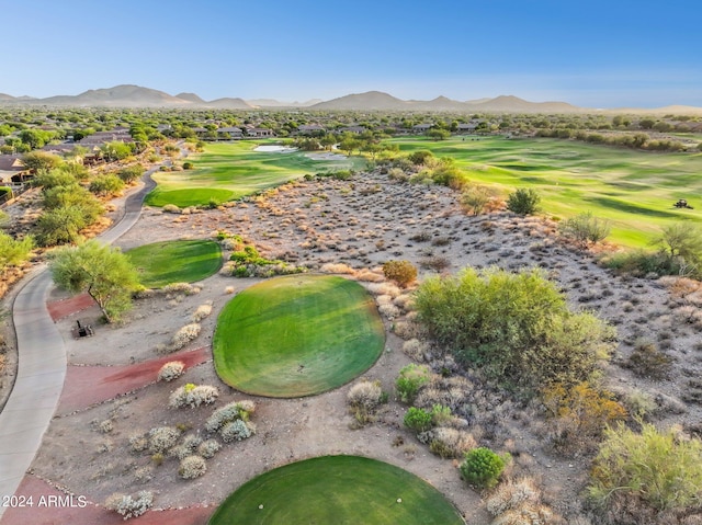
[[[573, 307], [591, 309], [616, 326], [620, 344], [607, 370], [610, 388], [648, 392], [659, 408], [657, 423], [691, 430], [700, 426], [702, 390], [698, 391], [701, 387], [695, 378], [702, 368], [698, 344], [702, 322], [689, 310], [687, 318], [681, 313], [689, 301], [672, 297], [658, 281], [611, 275], [591, 255], [554, 241], [553, 225], [542, 219], [508, 213], [468, 217], [448, 189], [399, 184], [385, 175], [365, 174], [351, 181], [291, 183], [265, 197], [190, 215], [145, 208], [136, 227], [117, 244], [129, 249], [168, 239], [210, 238], [217, 230], [245, 236], [263, 255], [293, 261], [310, 271], [319, 271], [326, 263], [374, 269], [390, 259], [406, 259], [422, 267], [421, 277], [434, 273], [426, 266], [437, 263], [438, 258], [445, 259], [444, 272], [468, 264], [510, 270], [541, 266], [559, 283]], [[421, 239], [426, 240], [418, 239], [419, 233], [424, 233]], [[58, 319], [68, 349], [67, 386], [26, 483], [41, 479], [95, 504], [114, 492], [152, 490], [156, 509], [200, 509], [201, 514], [195, 512], [196, 517], [188, 522], [195, 524], [205, 523], [210, 514], [203, 507], [216, 506], [263, 471], [319, 455], [359, 454], [428, 480], [453, 502], [467, 523], [489, 523], [480, 494], [460, 480], [457, 464], [433, 456], [403, 427], [405, 407], [394, 396], [375, 423], [354, 430], [346, 402], [350, 385], [319, 396], [284, 400], [247, 396], [218, 379], [208, 353], [217, 315], [233, 294], [258, 281], [214, 275], [196, 283], [200, 292], [193, 295], [173, 293], [138, 299], [126, 322], [118, 327], [100, 324], [94, 306]], [[50, 300], [65, 298], [55, 290]], [[182, 355], [197, 353], [196, 358], [190, 358], [182, 377], [156, 383], [156, 363], [165, 359], [157, 346], [191, 322], [203, 304], [212, 305], [212, 315], [202, 320], [201, 335], [181, 351]], [[94, 336], [73, 339], [71, 328], [77, 319], [92, 323]], [[392, 331], [399, 320], [384, 319], [386, 349], [364, 374], [380, 380], [389, 392], [398, 370], [412, 362], [401, 351], [403, 340]], [[642, 379], [620, 366], [636, 338], [663, 341], [661, 333], [668, 342], [667, 353], [675, 359], [670, 379]], [[78, 379], [81, 368], [86, 368], [82, 383]], [[105, 383], [111, 385], [106, 390]], [[207, 461], [207, 472], [191, 481], [178, 476], [177, 459], [166, 458], [157, 466], [148, 454], [131, 452], [128, 444], [133, 434], [161, 425], [179, 425], [185, 434], [205, 435], [211, 407], [168, 407], [170, 392], [185, 383], [216, 386], [220, 395], [214, 407], [241, 399], [257, 403], [257, 434], [225, 444]], [[529, 412], [533, 409], [518, 412], [514, 404], [502, 401], [499, 395], [486, 396], [479, 406], [492, 413], [489, 429], [484, 424], [480, 444], [509, 450], [514, 457], [514, 473], [534, 476], [548, 504], [566, 516], [577, 515], [589, 457], [551, 454], [544, 446], [537, 415]], [[19, 523], [8, 521], [18, 515], [8, 513], [2, 523]], [[137, 522], [152, 523], [145, 520], [148, 515]], [[93, 514], [83, 516], [83, 523], [95, 523]], [[76, 518], [71, 523], [81, 522]], [[105, 518], [100, 523], [111, 522]]]

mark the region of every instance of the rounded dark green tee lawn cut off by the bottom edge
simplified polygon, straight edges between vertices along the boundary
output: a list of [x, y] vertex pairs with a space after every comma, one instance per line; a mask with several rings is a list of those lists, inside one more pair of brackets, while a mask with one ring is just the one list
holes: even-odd
[[[399, 502], [398, 502], [399, 500]], [[270, 470], [240, 487], [210, 525], [464, 525], [451, 503], [398, 467], [324, 456]]]

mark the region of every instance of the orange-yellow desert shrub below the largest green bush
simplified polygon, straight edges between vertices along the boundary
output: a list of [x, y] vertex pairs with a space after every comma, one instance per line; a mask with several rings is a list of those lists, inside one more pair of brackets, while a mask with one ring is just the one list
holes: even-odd
[[561, 383], [550, 385], [541, 399], [547, 411], [551, 438], [563, 453], [592, 447], [608, 424], [626, 418], [626, 410], [611, 393], [588, 383], [569, 388]]

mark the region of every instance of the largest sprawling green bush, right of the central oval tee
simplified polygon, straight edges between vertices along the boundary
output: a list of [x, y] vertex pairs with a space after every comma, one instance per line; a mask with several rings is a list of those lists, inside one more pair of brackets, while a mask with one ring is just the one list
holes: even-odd
[[430, 277], [415, 305], [419, 322], [442, 346], [511, 388], [579, 383], [613, 347], [614, 330], [590, 313], [571, 313], [539, 270], [468, 267]]

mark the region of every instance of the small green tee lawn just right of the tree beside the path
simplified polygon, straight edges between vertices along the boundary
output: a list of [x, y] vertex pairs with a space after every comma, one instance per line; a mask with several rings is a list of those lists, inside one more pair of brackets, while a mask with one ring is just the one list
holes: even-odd
[[155, 242], [125, 253], [139, 272], [141, 284], [148, 288], [194, 283], [222, 266], [222, 248], [211, 240]]

